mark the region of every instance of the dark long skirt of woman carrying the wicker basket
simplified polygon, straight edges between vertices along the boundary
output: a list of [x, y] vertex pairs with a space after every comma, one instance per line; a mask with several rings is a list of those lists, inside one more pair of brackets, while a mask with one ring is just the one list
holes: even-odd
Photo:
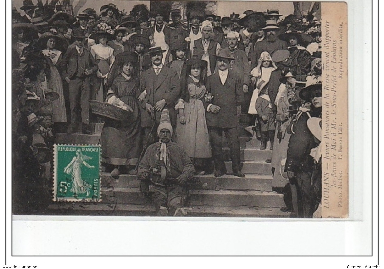
[[140, 112], [136, 98], [120, 98], [134, 112], [126, 121], [106, 120], [101, 131], [101, 161], [114, 165], [136, 165], [141, 150]]

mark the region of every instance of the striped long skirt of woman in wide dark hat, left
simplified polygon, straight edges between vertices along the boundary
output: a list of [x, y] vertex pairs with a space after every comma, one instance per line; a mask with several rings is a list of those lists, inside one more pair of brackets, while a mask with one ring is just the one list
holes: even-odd
[[51, 78], [48, 81], [48, 87], [58, 93], [59, 99], [52, 102], [53, 104], [53, 122], [67, 122], [67, 114], [65, 109], [65, 99], [63, 91], [63, 81], [56, 66], [51, 65]]

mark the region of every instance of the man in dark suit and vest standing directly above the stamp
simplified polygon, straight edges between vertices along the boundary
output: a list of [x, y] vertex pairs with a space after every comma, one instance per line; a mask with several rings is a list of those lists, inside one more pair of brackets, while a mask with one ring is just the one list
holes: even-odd
[[73, 47], [66, 51], [61, 68], [64, 70], [63, 78], [69, 84], [71, 124], [68, 133], [74, 133], [81, 116], [83, 134], [91, 134], [89, 128], [89, 99], [90, 76], [98, 70], [98, 65], [92, 54], [84, 47], [84, 31], [77, 28], [73, 31], [75, 42]]

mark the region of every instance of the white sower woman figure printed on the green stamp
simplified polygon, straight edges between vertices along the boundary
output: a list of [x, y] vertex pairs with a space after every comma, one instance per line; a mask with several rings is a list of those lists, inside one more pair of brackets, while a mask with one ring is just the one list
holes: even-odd
[[81, 178], [81, 165], [84, 164], [88, 168], [95, 168], [94, 165], [89, 165], [86, 162], [90, 159], [92, 158], [81, 153], [81, 149], [76, 149], [76, 156], [74, 156], [72, 161], [64, 168], [64, 173], [72, 176], [72, 188], [70, 191], [73, 192], [75, 196], [83, 193], [89, 196], [91, 185]]

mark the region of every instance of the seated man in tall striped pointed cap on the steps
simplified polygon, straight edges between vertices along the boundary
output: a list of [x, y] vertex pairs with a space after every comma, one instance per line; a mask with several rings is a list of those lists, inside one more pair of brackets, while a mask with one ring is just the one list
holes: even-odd
[[157, 216], [184, 216], [186, 185], [195, 168], [184, 149], [171, 142], [173, 129], [164, 109], [157, 128], [160, 141], [151, 144], [141, 159], [137, 178], [140, 190], [151, 196]]

